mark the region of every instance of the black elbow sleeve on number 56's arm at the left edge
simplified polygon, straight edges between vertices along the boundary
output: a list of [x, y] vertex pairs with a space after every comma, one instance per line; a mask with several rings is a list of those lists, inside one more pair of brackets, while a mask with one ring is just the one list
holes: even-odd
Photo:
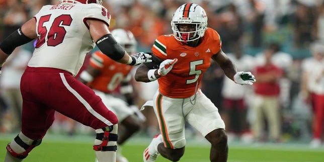
[[21, 28], [11, 33], [1, 44], [0, 48], [6, 53], [11, 54], [15, 50], [16, 47], [26, 44], [33, 39], [28, 38], [21, 31]]

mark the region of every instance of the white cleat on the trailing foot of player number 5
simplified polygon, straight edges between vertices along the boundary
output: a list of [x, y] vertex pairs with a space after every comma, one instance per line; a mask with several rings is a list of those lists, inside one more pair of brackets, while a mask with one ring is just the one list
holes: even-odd
[[144, 162], [154, 162], [157, 159], [157, 156], [160, 154], [157, 150], [157, 145], [161, 142], [163, 142], [162, 135], [156, 134], [143, 152]]

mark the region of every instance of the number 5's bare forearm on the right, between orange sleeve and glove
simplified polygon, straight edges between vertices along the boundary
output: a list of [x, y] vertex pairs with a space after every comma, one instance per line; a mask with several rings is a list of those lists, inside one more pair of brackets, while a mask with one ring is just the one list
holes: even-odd
[[[236, 66], [227, 57], [227, 55], [220, 49], [212, 59], [217, 62], [217, 64], [222, 68], [224, 74], [234, 81], [234, 75], [237, 72]], [[235, 82], [235, 81], [234, 81]]]

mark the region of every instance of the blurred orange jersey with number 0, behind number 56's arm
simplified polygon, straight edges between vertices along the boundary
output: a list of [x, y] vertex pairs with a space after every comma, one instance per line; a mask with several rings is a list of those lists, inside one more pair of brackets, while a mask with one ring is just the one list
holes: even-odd
[[133, 67], [116, 62], [101, 51], [92, 54], [90, 66], [99, 69], [101, 73], [88, 86], [104, 93], [112, 93]]

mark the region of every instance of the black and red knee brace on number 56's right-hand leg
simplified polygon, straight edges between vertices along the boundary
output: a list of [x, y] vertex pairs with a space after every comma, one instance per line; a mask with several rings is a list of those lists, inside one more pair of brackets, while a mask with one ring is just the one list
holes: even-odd
[[96, 130], [96, 139], [102, 141], [101, 144], [94, 145], [96, 151], [117, 151], [118, 126], [107, 126]]

